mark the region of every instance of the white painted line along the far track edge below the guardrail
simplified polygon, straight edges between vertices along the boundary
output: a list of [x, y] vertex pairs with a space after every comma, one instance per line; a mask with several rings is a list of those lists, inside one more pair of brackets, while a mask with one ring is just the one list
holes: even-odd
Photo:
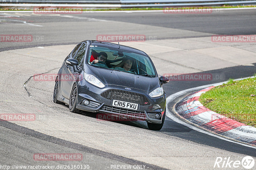
[[[0, 4], [1, 6], [1, 4]], [[211, 9], [212, 11], [220, 11], [220, 10], [251, 10], [251, 9], [256, 9], [256, 7], [249, 7], [249, 8], [206, 8], [206, 9], [202, 9], [202, 11], [204, 10], [209, 10]], [[187, 9], [189, 10], [189, 9]], [[83, 11], [83, 13], [111, 13], [111, 12], [125, 12], [125, 13], [132, 13], [132, 12], [163, 12], [163, 10], [138, 10], [138, 11]], [[35, 12], [35, 11], [0, 11], [0, 12]], [[47, 11], [44, 11], [47, 12]], [[49, 11], [49, 13], [52, 13], [52, 11]], [[68, 13], [67, 14], [71, 14]]]

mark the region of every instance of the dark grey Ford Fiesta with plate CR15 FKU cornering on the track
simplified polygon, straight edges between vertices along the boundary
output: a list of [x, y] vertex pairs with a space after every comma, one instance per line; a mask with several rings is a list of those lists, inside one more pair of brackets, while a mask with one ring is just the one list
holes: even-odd
[[53, 102], [81, 110], [144, 120], [163, 127], [168, 78], [158, 77], [149, 56], [138, 49], [85, 40], [65, 58], [55, 80]]

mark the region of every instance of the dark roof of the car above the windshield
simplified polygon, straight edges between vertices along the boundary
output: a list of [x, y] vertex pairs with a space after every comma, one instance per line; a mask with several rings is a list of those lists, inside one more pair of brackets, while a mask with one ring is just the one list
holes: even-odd
[[[118, 44], [114, 44], [114, 43], [110, 43], [110, 42], [97, 41], [97, 40], [89, 40], [89, 41], [91, 41], [92, 46], [105, 46], [105, 47], [111, 47], [111, 48], [119, 47]], [[129, 46], [120, 45], [120, 49], [148, 56], [144, 51], [141, 51], [136, 48], [129, 47]]]

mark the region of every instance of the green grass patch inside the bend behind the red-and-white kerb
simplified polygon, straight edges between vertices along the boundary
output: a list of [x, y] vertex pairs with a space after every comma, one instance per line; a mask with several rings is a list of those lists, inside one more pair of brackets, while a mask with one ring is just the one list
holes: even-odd
[[199, 101], [216, 113], [256, 127], [256, 96], [251, 95], [256, 95], [256, 78], [230, 79], [202, 94]]

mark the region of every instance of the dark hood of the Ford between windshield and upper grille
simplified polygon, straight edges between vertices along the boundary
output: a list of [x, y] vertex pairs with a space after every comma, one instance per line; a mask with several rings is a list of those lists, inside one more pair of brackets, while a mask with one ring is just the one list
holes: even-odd
[[105, 85], [109, 84], [129, 87], [131, 89], [139, 89], [149, 93], [154, 89], [161, 87], [158, 77], [140, 76], [123, 71], [116, 71], [93, 66], [88, 66], [88, 68], [90, 71], [85, 70], [85, 72], [94, 75]]

